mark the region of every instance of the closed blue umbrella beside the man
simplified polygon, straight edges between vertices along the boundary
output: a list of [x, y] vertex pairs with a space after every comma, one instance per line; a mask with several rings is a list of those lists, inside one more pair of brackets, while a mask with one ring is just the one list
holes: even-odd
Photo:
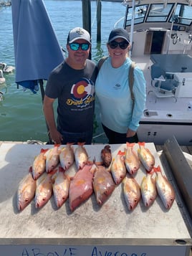
[[39, 84], [64, 60], [64, 54], [42, 0], [14, 0], [11, 9], [15, 82], [37, 93]]

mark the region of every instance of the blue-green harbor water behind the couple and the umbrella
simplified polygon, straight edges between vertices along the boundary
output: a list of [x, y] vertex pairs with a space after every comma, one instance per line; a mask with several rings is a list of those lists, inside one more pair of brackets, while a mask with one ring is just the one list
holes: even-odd
[[[52, 21], [59, 44], [65, 49], [67, 34], [73, 27], [82, 27], [82, 1], [44, 1]], [[97, 44], [97, 1], [91, 1], [92, 10], [92, 60], [97, 62], [107, 54], [106, 42], [115, 22], [125, 15], [125, 6], [120, 2], [102, 1], [101, 44]], [[14, 42], [11, 7], [0, 9], [0, 62], [14, 65]], [[120, 24], [123, 26], [123, 24]], [[29, 90], [23, 92], [16, 87], [14, 73], [4, 75], [6, 85], [0, 85], [4, 93], [0, 101], [0, 141], [47, 141], [47, 127], [42, 113], [42, 95]], [[45, 85], [45, 83], [44, 83]], [[96, 105], [96, 112], [97, 105]], [[95, 118], [95, 142], [101, 143], [103, 137], [99, 115]]]

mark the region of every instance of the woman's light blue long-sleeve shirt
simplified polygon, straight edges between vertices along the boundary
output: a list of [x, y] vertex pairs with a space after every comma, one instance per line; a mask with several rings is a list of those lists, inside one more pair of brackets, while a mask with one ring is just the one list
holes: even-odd
[[[145, 109], [145, 77], [139, 67], [134, 69], [133, 94], [130, 95], [128, 74], [131, 60], [126, 58], [122, 66], [114, 68], [111, 58], [102, 64], [95, 83], [95, 93], [100, 103], [103, 125], [117, 133], [127, 133], [128, 128], [137, 131], [140, 118]], [[132, 110], [133, 108], [133, 110]]]

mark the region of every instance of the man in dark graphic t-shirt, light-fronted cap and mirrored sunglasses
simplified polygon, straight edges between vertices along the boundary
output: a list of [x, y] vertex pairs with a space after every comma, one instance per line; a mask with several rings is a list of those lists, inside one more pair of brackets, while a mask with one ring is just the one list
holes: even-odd
[[72, 29], [67, 37], [68, 57], [47, 80], [43, 109], [54, 143], [92, 143], [97, 67], [88, 60], [90, 47], [90, 34], [80, 27]]

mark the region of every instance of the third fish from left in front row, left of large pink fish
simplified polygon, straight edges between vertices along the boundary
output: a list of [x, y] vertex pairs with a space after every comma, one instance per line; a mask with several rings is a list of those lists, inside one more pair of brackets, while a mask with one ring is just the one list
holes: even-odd
[[62, 207], [69, 196], [70, 178], [64, 174], [62, 166], [58, 166], [57, 172], [52, 175], [52, 188], [54, 194], [54, 202], [57, 207]]

